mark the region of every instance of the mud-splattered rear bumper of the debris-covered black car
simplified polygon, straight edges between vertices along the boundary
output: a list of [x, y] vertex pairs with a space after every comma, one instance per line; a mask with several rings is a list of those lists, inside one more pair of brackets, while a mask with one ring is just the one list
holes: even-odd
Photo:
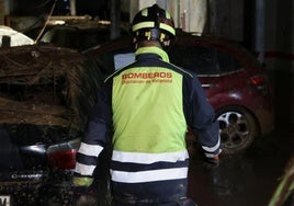
[[10, 179], [0, 180], [0, 197], [9, 197], [10, 205], [68, 205], [71, 175], [72, 171], [10, 173]]

